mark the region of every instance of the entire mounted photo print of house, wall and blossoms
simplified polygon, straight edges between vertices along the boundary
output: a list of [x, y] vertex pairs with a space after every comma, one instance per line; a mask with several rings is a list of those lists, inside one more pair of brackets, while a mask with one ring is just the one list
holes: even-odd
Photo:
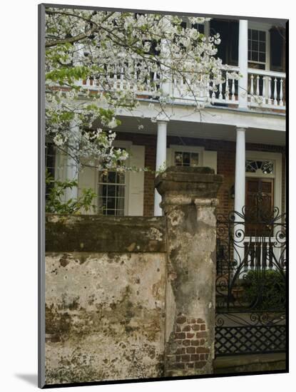
[[39, 5], [39, 387], [288, 371], [288, 22]]

